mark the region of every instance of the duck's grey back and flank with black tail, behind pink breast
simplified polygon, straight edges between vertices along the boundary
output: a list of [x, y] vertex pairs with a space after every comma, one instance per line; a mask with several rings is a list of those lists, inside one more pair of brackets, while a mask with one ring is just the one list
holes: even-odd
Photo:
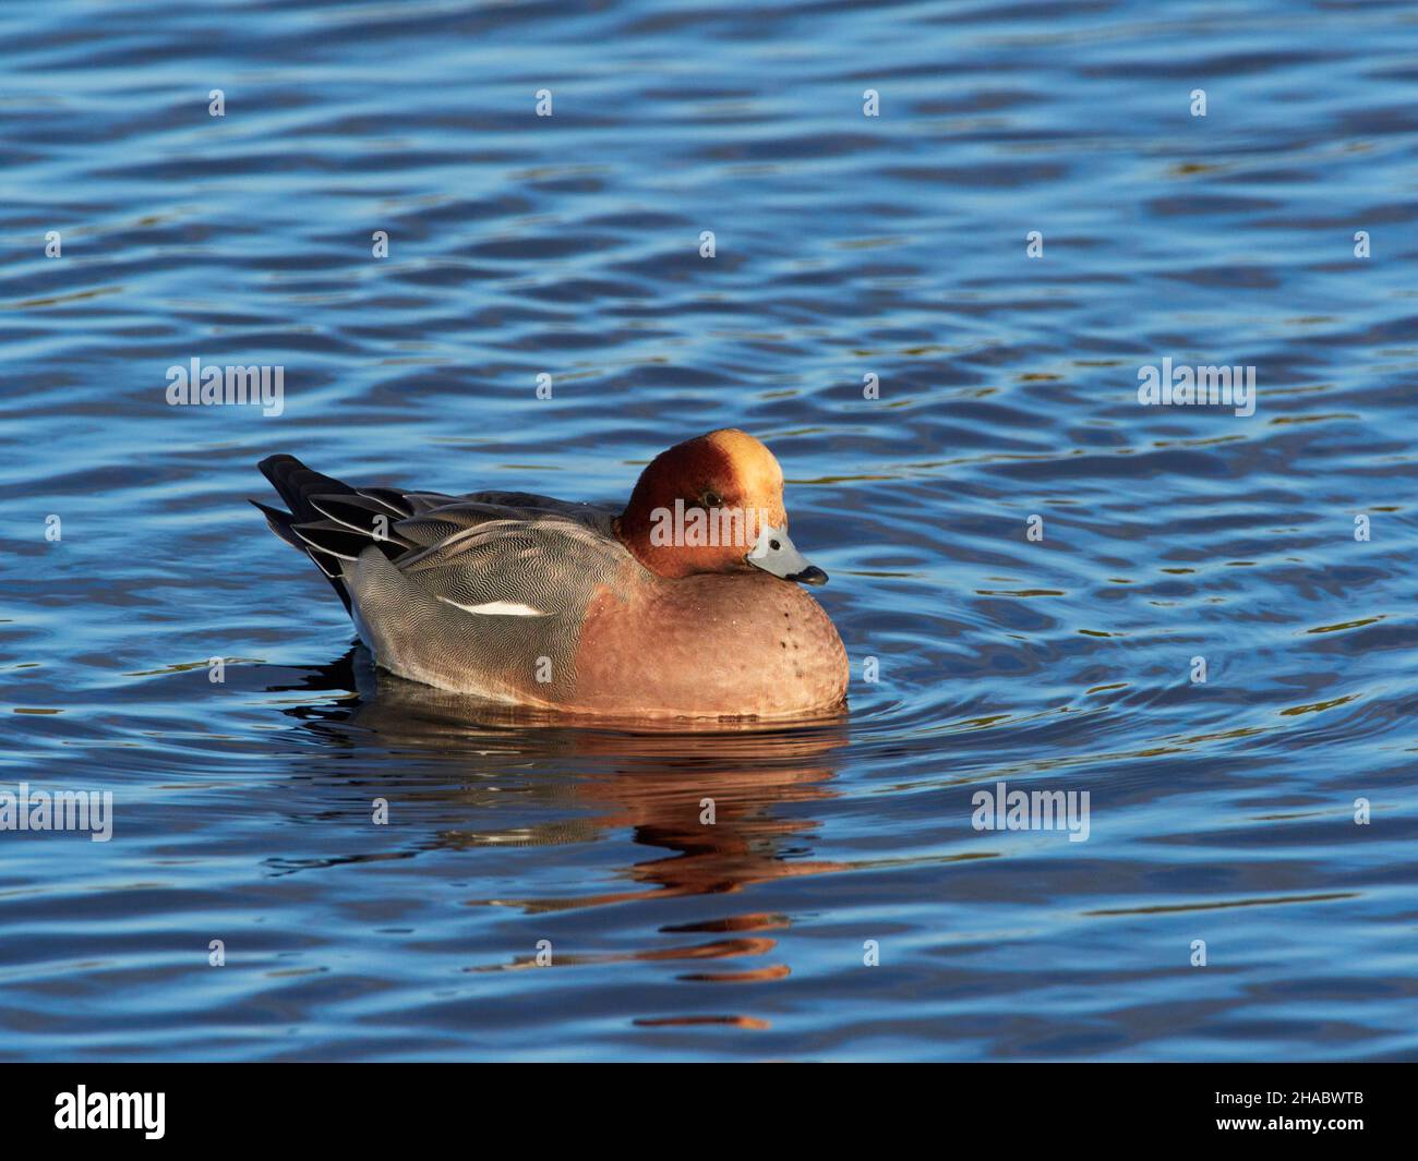
[[291, 512], [257, 506], [320, 567], [381, 665], [502, 700], [571, 695], [587, 605], [632, 560], [608, 512], [525, 492], [356, 489], [289, 455], [261, 471]]

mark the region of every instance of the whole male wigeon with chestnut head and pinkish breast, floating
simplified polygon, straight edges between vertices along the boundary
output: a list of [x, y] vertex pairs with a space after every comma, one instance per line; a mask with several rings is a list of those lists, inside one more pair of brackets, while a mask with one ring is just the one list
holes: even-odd
[[[787, 534], [783, 469], [710, 431], [661, 452], [618, 516], [523, 492], [350, 488], [261, 461], [257, 503], [335, 585], [374, 661], [498, 702], [615, 716], [841, 706], [847, 651]], [[255, 500], [252, 500], [255, 503]]]

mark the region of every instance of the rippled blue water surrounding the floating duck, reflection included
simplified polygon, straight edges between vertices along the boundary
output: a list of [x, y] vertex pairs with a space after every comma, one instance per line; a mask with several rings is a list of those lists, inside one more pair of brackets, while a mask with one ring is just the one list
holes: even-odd
[[[48, 0], [0, 133], [0, 773], [115, 802], [0, 832], [0, 1056], [1418, 1056], [1412, 6]], [[839, 720], [479, 713], [247, 503], [725, 425]]]

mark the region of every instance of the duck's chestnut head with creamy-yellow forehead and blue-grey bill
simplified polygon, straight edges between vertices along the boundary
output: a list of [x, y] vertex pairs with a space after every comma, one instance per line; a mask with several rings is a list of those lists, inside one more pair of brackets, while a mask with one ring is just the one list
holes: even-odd
[[827, 573], [788, 540], [778, 461], [736, 428], [657, 455], [640, 473], [615, 534], [662, 577], [761, 568], [803, 584], [827, 583]]

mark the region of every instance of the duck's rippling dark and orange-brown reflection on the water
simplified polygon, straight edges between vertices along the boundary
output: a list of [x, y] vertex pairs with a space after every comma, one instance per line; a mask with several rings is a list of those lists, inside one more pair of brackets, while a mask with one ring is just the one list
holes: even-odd
[[[628, 832], [632, 842], [658, 852], [625, 868], [631, 886], [620, 890], [469, 900], [474, 904], [545, 913], [651, 896], [729, 894], [753, 883], [845, 866], [810, 858], [818, 824], [803, 809], [834, 795], [838, 751], [848, 740], [845, 714], [771, 724], [605, 719], [569, 724], [566, 717], [406, 682], [376, 669], [363, 646], [333, 665], [305, 671], [296, 685], [269, 692], [325, 695], [286, 706], [285, 713], [349, 758], [387, 767], [397, 756], [411, 775], [411, 791], [451, 808], [442, 814], [458, 821], [428, 835], [425, 849], [584, 843]], [[330, 692], [345, 696], [332, 699]], [[342, 777], [346, 765], [340, 763]], [[776, 943], [764, 933], [784, 926], [783, 916], [769, 913], [664, 926], [665, 933], [716, 938], [632, 958], [761, 955]], [[682, 978], [786, 974], [787, 967], [776, 965]]]

